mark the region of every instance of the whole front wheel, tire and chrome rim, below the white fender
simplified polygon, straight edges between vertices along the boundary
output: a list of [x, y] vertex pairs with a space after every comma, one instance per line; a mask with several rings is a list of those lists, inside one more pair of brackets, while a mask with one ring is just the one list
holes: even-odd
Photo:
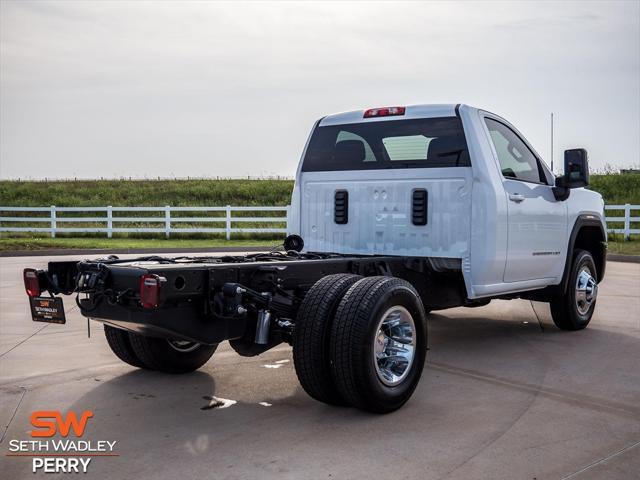
[[551, 299], [551, 317], [561, 330], [582, 330], [591, 321], [598, 296], [598, 277], [593, 257], [577, 250], [569, 271], [569, 284], [564, 295]]

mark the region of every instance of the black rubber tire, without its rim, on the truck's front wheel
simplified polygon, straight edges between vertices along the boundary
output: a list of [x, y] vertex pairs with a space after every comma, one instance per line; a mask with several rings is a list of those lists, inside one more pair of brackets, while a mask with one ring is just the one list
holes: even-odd
[[[578, 275], [587, 269], [593, 280], [596, 282], [593, 300], [587, 305], [582, 304], [582, 312], [576, 301]], [[586, 250], [576, 250], [569, 270], [569, 282], [564, 295], [556, 295], [551, 299], [551, 317], [553, 323], [561, 330], [582, 330], [591, 321], [593, 311], [596, 307], [597, 297], [597, 270], [593, 257]]]

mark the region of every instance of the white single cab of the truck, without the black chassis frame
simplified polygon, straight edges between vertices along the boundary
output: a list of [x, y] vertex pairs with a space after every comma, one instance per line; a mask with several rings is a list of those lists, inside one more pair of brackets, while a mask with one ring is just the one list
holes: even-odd
[[307, 142], [289, 228], [310, 251], [458, 265], [469, 299], [530, 291], [562, 282], [576, 239], [604, 274], [604, 202], [583, 177], [567, 196], [522, 133], [467, 105], [339, 113]]

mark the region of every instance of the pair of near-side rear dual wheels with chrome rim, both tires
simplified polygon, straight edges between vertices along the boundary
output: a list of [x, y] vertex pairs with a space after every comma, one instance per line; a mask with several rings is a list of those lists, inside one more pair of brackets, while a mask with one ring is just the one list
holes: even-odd
[[311, 288], [299, 310], [294, 362], [313, 398], [387, 413], [415, 390], [426, 341], [424, 307], [408, 282], [332, 275]]

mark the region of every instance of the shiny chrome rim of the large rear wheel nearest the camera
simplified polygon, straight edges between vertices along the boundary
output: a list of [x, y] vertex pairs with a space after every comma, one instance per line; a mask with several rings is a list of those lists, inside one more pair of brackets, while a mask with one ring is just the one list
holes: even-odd
[[409, 311], [396, 305], [382, 315], [373, 338], [373, 364], [382, 383], [400, 384], [409, 375], [416, 351], [416, 326]]

